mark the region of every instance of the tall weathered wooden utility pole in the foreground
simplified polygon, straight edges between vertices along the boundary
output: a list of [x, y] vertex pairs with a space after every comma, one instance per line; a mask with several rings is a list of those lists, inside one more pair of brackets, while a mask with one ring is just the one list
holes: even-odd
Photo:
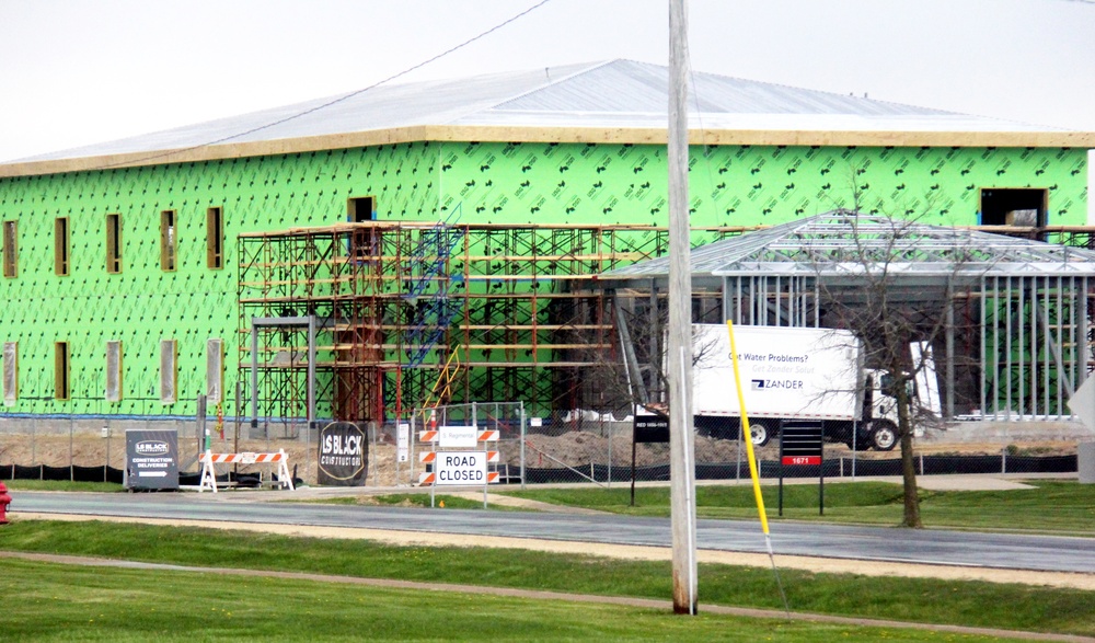
[[669, 484], [673, 612], [696, 613], [692, 262], [688, 198], [688, 11], [669, 0]]

